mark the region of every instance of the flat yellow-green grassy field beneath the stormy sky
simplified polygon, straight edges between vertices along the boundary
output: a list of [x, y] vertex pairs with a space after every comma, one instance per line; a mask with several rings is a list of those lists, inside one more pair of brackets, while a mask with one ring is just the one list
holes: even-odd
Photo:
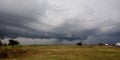
[[105, 46], [4, 46], [0, 60], [120, 60], [120, 48]]

